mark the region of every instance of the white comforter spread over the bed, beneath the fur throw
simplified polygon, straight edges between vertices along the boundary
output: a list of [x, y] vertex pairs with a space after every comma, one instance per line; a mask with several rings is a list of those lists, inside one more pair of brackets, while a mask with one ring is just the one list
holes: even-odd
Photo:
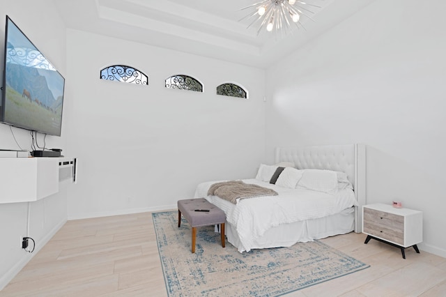
[[339, 190], [332, 195], [313, 190], [283, 188], [256, 179], [243, 181], [271, 188], [279, 195], [242, 199], [238, 204], [232, 204], [217, 196], [207, 195], [210, 185], [217, 183], [210, 181], [197, 186], [195, 197], [205, 197], [226, 213], [226, 222], [236, 227], [240, 243], [247, 251], [256, 238], [263, 236], [272, 227], [322, 218], [357, 205], [353, 190], [350, 189]]

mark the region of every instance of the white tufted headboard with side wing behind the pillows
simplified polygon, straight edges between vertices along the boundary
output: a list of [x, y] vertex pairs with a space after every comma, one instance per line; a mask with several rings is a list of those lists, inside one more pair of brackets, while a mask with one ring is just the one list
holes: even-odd
[[297, 169], [345, 172], [355, 190], [355, 232], [362, 232], [361, 206], [366, 204], [366, 147], [364, 144], [276, 148], [276, 162], [293, 162]]

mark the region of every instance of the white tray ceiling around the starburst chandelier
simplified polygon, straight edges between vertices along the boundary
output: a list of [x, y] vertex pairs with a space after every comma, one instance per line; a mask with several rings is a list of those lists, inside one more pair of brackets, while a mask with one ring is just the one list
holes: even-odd
[[66, 26], [138, 43], [267, 68], [374, 0], [307, 0], [312, 20], [286, 34], [242, 20], [261, 0], [54, 0]]

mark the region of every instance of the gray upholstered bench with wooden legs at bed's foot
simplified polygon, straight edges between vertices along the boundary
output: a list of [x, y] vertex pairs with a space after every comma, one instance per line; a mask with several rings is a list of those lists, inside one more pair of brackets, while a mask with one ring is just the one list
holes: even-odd
[[178, 228], [181, 224], [181, 213], [192, 227], [192, 252], [195, 252], [195, 238], [197, 227], [220, 224], [222, 234], [222, 247], [224, 248], [224, 212], [204, 198], [178, 200]]

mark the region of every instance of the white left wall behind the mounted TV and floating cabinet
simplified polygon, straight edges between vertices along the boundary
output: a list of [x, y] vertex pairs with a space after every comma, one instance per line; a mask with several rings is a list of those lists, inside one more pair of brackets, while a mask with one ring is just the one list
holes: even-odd
[[[45, 54], [47, 59], [66, 76], [66, 33], [59, 14], [53, 8], [52, 1], [17, 0], [2, 3], [0, 6], [0, 40], [1, 56], [3, 56], [3, 40], [5, 36], [5, 15], [24, 31], [26, 36]], [[3, 69], [3, 59], [0, 61]], [[0, 79], [3, 79], [3, 71]], [[65, 112], [65, 111], [64, 111]], [[11, 129], [13, 133], [11, 133]], [[31, 150], [29, 131], [11, 128], [0, 124], [0, 148]], [[20, 147], [15, 143], [17, 139]], [[62, 137], [46, 137], [49, 148], [64, 147], [66, 139], [66, 123], [63, 123]], [[43, 146], [43, 135], [38, 136], [38, 144]], [[0, 168], [1, 170], [1, 168]], [[0, 181], [0, 189], [2, 181]], [[56, 195], [30, 204], [29, 236], [36, 241], [33, 254], [21, 248], [20, 238], [27, 235], [27, 203], [0, 204], [0, 289], [2, 289], [31, 257], [45, 245], [49, 238], [67, 220], [66, 190]], [[32, 245], [30, 245], [30, 248]]]

